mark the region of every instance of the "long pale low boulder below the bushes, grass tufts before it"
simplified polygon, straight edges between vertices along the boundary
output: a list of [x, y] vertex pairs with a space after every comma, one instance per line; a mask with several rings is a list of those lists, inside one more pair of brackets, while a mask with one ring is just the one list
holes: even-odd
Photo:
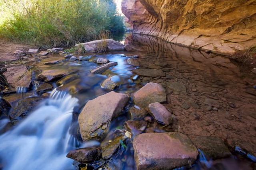
[[[98, 52], [98, 46], [106, 44], [106, 50], [107, 51], [118, 51], [118, 50], [124, 50], [124, 45], [118, 41], [114, 41], [113, 39], [102, 39], [102, 40], [95, 40], [90, 41], [87, 43], [82, 43], [84, 46], [84, 49], [87, 53], [96, 53]], [[80, 44], [76, 44], [78, 46]]]

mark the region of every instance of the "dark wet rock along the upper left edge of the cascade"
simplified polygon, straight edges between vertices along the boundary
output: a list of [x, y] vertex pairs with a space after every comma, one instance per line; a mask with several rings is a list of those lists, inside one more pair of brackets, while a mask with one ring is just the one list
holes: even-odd
[[28, 115], [32, 109], [36, 105], [38, 105], [38, 102], [41, 99], [38, 97], [32, 97], [32, 98], [26, 98], [22, 99], [18, 102], [18, 105], [13, 108], [13, 110], [10, 112], [9, 117], [11, 121], [18, 121], [22, 119], [22, 117]]

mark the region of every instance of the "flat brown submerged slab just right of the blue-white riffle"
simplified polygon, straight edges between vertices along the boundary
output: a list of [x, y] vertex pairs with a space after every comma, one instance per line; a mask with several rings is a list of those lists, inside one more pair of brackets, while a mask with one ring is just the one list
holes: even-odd
[[159, 69], [137, 68], [132, 70], [132, 72], [144, 77], [164, 77], [165, 76], [165, 72]]

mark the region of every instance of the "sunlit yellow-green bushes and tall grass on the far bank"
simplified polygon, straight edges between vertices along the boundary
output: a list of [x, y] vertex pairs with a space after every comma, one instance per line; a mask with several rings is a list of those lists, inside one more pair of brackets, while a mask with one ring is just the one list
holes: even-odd
[[0, 37], [50, 48], [124, 31], [114, 0], [0, 0]]

